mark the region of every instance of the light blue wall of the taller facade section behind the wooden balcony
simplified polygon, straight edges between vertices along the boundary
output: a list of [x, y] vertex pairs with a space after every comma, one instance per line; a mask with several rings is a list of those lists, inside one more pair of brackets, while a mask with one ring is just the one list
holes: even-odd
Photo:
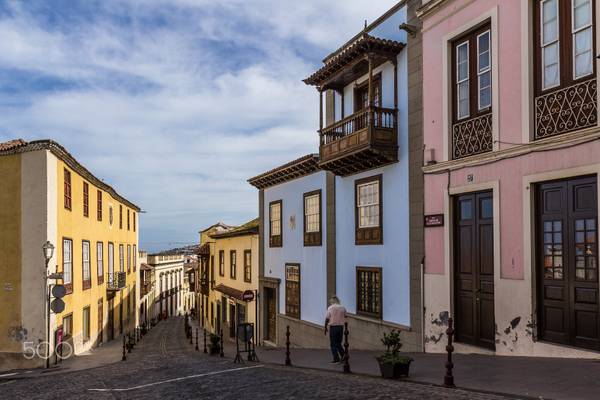
[[[406, 21], [401, 8], [369, 34], [406, 43], [406, 32], [398, 26]], [[356, 267], [382, 268], [383, 320], [410, 326], [409, 251], [409, 159], [408, 159], [408, 73], [406, 49], [397, 57], [398, 73], [398, 158], [399, 162], [336, 179], [336, 290], [350, 313], [356, 312]], [[394, 107], [394, 66], [387, 62], [381, 72], [382, 106]], [[358, 82], [368, 78], [363, 76]], [[354, 110], [354, 84], [344, 88], [344, 115]], [[339, 97], [339, 96], [338, 96]], [[336, 99], [337, 100], [337, 99]], [[341, 104], [341, 101], [336, 101]], [[341, 115], [336, 110], [336, 120]], [[383, 244], [355, 245], [355, 181], [382, 175]]]

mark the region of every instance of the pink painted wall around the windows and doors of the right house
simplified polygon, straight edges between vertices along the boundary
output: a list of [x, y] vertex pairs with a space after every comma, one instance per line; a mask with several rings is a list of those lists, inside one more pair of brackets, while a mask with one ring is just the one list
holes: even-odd
[[[523, 0], [524, 1], [524, 0]], [[521, 109], [521, 1], [478, 0], [461, 9], [468, 1], [451, 2], [424, 21], [423, 81], [424, 81], [424, 142], [435, 150], [435, 157], [443, 161], [443, 77], [448, 73], [443, 65], [443, 37], [469, 21], [498, 10], [498, 73], [499, 139], [522, 143]], [[446, 15], [451, 15], [444, 19]], [[450, 144], [449, 144], [450, 145]], [[503, 144], [500, 148], [511, 147]], [[600, 158], [600, 143], [580, 145], [552, 152], [532, 153], [477, 167], [466, 167], [450, 175], [450, 187], [469, 184], [500, 182], [500, 263], [501, 278], [524, 278], [523, 254], [523, 176], [548, 171], [596, 164]], [[473, 182], [467, 182], [467, 175]], [[425, 175], [425, 213], [444, 212], [444, 193], [448, 186], [446, 173]], [[450, 223], [450, 221], [446, 221]], [[444, 274], [444, 228], [425, 230], [425, 271]]]

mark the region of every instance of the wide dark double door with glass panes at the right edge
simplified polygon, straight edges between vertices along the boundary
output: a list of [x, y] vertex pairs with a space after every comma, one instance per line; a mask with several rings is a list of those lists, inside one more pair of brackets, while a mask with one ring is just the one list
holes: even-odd
[[600, 349], [595, 177], [537, 187], [538, 334]]

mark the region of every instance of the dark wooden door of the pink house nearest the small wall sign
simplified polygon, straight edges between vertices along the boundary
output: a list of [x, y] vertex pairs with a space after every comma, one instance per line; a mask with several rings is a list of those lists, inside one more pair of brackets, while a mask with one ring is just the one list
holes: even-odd
[[492, 192], [455, 198], [456, 340], [495, 348]]

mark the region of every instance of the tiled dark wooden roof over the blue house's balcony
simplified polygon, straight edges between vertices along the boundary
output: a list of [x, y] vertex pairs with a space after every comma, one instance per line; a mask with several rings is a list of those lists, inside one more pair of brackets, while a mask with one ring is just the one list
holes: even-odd
[[380, 39], [363, 32], [356, 40], [325, 59], [323, 67], [304, 79], [304, 83], [321, 90], [341, 89], [368, 72], [368, 55], [373, 56], [374, 67], [377, 67], [394, 60], [404, 46], [402, 42]]

